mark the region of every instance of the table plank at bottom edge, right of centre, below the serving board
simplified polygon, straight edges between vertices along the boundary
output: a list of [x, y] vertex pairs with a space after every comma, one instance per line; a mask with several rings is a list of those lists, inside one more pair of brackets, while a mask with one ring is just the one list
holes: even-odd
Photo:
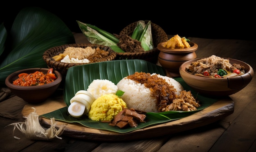
[[169, 135], [159, 152], [207, 152], [225, 132], [218, 122]]

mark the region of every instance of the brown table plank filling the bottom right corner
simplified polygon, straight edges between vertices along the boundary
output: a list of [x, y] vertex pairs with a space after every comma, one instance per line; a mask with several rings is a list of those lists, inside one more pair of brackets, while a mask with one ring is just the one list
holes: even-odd
[[[246, 106], [239, 112], [236, 119], [227, 128], [220, 139], [211, 148], [210, 151], [247, 151], [256, 141], [256, 96], [251, 97], [248, 104], [243, 99], [241, 103]], [[241, 105], [241, 104], [240, 104]], [[237, 105], [239, 106], [239, 105]]]

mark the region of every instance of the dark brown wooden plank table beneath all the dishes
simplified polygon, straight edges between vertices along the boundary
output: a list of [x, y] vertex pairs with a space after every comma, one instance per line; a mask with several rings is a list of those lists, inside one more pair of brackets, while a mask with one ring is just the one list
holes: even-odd
[[[74, 36], [76, 43], [87, 42], [81, 33], [75, 33]], [[197, 57], [230, 57], [256, 69], [255, 40], [187, 38], [198, 44]], [[8, 89], [2, 88], [1, 92], [8, 92]], [[7, 125], [25, 122], [21, 112], [27, 103], [17, 96], [9, 95], [0, 102], [0, 152], [256, 152], [256, 77], [243, 90], [229, 97], [234, 101], [234, 112], [206, 126], [153, 139], [106, 142], [64, 135], [62, 139], [35, 141], [27, 139], [17, 129], [14, 135], [20, 137], [20, 140], [15, 139], [13, 126]]]

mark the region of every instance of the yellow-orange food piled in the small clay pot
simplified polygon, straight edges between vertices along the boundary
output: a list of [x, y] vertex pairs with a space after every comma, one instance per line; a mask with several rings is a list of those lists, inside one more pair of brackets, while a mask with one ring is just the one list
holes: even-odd
[[174, 35], [167, 42], [163, 43], [163, 46], [166, 48], [189, 48], [190, 44], [187, 42], [186, 37], [180, 37], [179, 35]]

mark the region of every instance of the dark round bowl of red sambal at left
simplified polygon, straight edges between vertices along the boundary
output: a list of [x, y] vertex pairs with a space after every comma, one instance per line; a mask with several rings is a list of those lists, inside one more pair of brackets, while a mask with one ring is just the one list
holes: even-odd
[[[27, 74], [30, 75], [30, 78], [26, 77]], [[17, 95], [28, 103], [36, 104], [45, 101], [51, 96], [61, 84], [61, 80], [62, 75], [57, 70], [51, 70], [49, 68], [27, 68], [11, 73], [5, 79], [5, 84], [14, 95]]]

